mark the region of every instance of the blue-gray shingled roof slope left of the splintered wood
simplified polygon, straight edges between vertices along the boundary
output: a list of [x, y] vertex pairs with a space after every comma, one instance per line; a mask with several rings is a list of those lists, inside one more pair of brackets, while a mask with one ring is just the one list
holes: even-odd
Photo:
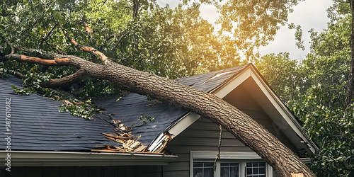
[[[11, 150], [26, 151], [91, 151], [92, 147], [116, 145], [104, 135], [114, 133], [114, 126], [101, 119], [85, 120], [70, 113], [60, 113], [60, 102], [30, 94], [16, 95], [11, 86], [21, 88], [21, 79], [0, 78], [0, 115], [6, 118], [6, 98], [11, 98]], [[0, 122], [5, 135], [5, 121]], [[0, 149], [6, 141], [0, 141]]]

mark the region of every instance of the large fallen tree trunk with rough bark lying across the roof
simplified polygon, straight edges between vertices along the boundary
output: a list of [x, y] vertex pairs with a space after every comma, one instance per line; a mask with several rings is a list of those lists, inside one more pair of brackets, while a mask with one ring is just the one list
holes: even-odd
[[[38, 56], [39, 55], [39, 56]], [[35, 62], [44, 65], [72, 65], [79, 69], [76, 74], [62, 79], [53, 79], [52, 83], [69, 84], [76, 81], [83, 74], [98, 79], [112, 81], [121, 89], [142, 95], [148, 95], [166, 103], [181, 106], [199, 115], [209, 118], [212, 122], [221, 125], [261, 156], [278, 172], [280, 176], [315, 176], [309, 168], [300, 161], [290, 149], [285, 147], [262, 125], [259, 125], [249, 115], [230, 105], [221, 98], [210, 95], [190, 86], [179, 84], [154, 74], [140, 72], [115, 62], [105, 60], [105, 64], [95, 64], [75, 56], [55, 55], [48, 52], [38, 52], [36, 57], [10, 54], [9, 59], [21, 62]], [[46, 58], [43, 59], [38, 57]], [[31, 58], [31, 59], [28, 59]], [[57, 62], [60, 61], [60, 62]]]

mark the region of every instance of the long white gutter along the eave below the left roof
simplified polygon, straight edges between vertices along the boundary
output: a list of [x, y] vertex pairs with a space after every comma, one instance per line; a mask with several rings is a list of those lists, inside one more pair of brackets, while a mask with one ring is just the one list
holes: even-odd
[[162, 154], [128, 154], [105, 152], [31, 152], [0, 151], [0, 156], [11, 153], [11, 166], [138, 166], [168, 165], [178, 156]]

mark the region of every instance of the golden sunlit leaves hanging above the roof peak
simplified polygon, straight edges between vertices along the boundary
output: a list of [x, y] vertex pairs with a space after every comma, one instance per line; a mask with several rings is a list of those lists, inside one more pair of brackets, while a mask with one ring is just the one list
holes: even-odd
[[232, 33], [236, 38], [236, 47], [252, 59], [256, 57], [253, 50], [273, 40], [279, 25], [287, 22], [288, 13], [292, 12], [291, 6], [296, 4], [297, 0], [227, 1], [219, 5], [222, 14], [218, 21], [222, 25], [220, 33]]

